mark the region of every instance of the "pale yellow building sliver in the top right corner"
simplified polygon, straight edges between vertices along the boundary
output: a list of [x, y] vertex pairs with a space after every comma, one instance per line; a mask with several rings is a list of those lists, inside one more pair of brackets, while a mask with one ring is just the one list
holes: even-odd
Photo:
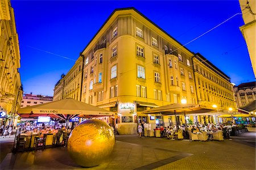
[[255, 0], [239, 0], [244, 25], [240, 27], [243, 38], [246, 41], [248, 52], [253, 67], [254, 76], [256, 75], [256, 1]]

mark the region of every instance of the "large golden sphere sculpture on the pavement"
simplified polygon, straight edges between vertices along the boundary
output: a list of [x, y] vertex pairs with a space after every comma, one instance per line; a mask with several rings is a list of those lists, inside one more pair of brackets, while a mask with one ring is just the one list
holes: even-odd
[[72, 130], [68, 138], [68, 152], [82, 167], [94, 167], [113, 151], [114, 132], [101, 120], [86, 120]]

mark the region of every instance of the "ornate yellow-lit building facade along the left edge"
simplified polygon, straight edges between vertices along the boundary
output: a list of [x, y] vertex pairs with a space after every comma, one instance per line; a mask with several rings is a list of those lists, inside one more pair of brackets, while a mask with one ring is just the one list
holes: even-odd
[[9, 0], [0, 4], [0, 112], [6, 113], [1, 124], [14, 124], [22, 101], [20, 52], [14, 10]]

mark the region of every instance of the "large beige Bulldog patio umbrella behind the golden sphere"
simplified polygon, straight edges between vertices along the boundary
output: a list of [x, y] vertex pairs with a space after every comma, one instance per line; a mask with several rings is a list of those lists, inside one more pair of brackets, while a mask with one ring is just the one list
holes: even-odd
[[18, 109], [18, 114], [54, 114], [68, 121], [80, 114], [93, 116], [113, 116], [115, 113], [83, 103], [75, 99], [63, 99]]

